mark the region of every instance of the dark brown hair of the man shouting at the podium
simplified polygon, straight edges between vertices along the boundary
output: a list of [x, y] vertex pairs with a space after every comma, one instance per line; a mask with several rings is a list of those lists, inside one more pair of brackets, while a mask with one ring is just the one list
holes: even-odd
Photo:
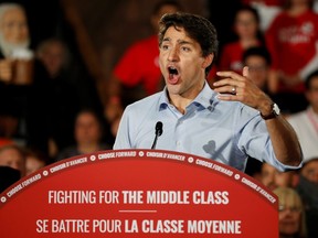
[[[190, 14], [186, 12], [167, 13], [162, 15], [159, 22], [159, 46], [161, 46], [163, 36], [167, 30], [173, 26], [184, 29], [187, 35], [197, 41], [202, 50], [202, 56], [214, 54], [214, 58], [218, 54], [219, 41], [214, 25], [205, 18], [197, 14]], [[209, 65], [205, 68], [205, 75], [209, 74], [213, 65]]]

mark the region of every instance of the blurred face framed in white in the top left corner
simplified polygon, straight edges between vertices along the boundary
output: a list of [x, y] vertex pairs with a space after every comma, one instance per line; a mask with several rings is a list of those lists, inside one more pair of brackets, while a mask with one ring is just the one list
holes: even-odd
[[1, 19], [0, 32], [7, 44], [20, 45], [29, 41], [29, 29], [23, 11], [8, 10]]

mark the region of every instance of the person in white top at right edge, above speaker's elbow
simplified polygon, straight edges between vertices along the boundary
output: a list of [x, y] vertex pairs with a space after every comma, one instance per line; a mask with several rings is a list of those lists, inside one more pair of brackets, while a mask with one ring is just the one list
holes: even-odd
[[298, 136], [306, 161], [318, 154], [318, 69], [306, 78], [305, 88], [307, 109], [288, 116], [287, 120]]

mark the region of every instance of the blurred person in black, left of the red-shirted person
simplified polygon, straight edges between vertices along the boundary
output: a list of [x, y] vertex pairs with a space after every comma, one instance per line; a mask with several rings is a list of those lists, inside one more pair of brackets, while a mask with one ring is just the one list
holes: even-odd
[[45, 39], [36, 47], [35, 57], [43, 63], [49, 78], [42, 82], [33, 98], [34, 102], [45, 98], [49, 110], [47, 125], [43, 127], [49, 128], [49, 155], [55, 158], [75, 142], [73, 123], [82, 106], [76, 85], [71, 82], [71, 55], [65, 43], [57, 37]]

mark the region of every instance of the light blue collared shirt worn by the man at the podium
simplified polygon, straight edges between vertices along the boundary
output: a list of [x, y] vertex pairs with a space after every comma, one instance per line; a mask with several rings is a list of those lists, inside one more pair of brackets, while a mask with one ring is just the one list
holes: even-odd
[[208, 83], [184, 115], [169, 104], [166, 88], [127, 106], [114, 150], [150, 149], [158, 121], [163, 125], [158, 150], [208, 158], [242, 172], [248, 155], [279, 171], [298, 169], [276, 159], [265, 121], [257, 110], [237, 101], [218, 99], [218, 93]]

